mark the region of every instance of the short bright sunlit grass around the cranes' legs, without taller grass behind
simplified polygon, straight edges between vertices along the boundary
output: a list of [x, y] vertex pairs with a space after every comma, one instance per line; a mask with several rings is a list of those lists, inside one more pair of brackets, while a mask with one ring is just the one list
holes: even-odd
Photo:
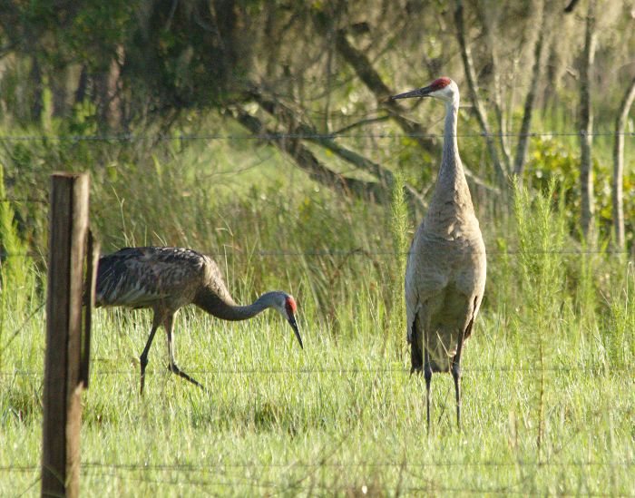
[[[562, 353], [544, 372], [539, 457], [539, 373], [496, 314], [479, 320], [466, 348], [464, 432], [454, 427], [452, 379], [439, 375], [431, 435], [423, 379], [395, 359], [371, 310], [342, 337], [301, 319], [304, 351], [272, 313], [233, 325], [183, 313], [178, 360], [209, 390], [167, 371], [163, 336], [141, 398], [147, 315], [98, 314], [83, 394], [83, 495], [635, 492], [632, 368], [607, 368], [596, 344], [553, 341]], [[38, 316], [3, 368], [3, 496], [39, 474], [43, 327]]]

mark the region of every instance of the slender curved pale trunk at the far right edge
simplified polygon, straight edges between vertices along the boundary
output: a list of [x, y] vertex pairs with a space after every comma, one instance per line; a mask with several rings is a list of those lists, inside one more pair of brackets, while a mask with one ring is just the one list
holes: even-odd
[[611, 195], [613, 198], [613, 228], [615, 231], [615, 247], [624, 250], [624, 126], [629, 116], [630, 106], [635, 100], [635, 78], [620, 103], [618, 117], [615, 120], [615, 145], [613, 147], [613, 181]]

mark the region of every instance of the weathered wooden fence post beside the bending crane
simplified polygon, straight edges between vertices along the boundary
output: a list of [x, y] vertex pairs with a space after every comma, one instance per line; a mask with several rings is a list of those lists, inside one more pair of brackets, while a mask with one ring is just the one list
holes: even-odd
[[89, 351], [81, 337], [88, 192], [87, 173], [51, 178], [42, 496], [79, 495], [82, 374], [87, 372], [87, 358], [83, 362], [81, 356], [82, 348]]

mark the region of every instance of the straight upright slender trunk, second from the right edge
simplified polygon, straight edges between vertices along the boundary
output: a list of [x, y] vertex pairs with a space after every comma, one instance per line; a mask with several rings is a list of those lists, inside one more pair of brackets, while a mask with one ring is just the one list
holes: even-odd
[[595, 55], [595, 0], [589, 0], [586, 28], [584, 31], [584, 49], [580, 71], [580, 181], [581, 181], [581, 228], [588, 243], [595, 243], [593, 223], [593, 168], [591, 144], [593, 132], [593, 114], [591, 110], [591, 67]]

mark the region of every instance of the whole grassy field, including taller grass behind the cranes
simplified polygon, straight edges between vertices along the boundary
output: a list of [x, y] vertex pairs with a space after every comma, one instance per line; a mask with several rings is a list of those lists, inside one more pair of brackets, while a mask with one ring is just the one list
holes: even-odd
[[[507, 218], [479, 205], [488, 282], [464, 354], [464, 431], [452, 378], [438, 375], [428, 435], [425, 382], [408, 374], [399, 246], [411, 234], [395, 233], [400, 211], [337, 199], [276, 154], [217, 152], [205, 177], [195, 150], [154, 157], [145, 176], [121, 157], [112, 171], [96, 168], [93, 222], [105, 249], [207, 250], [240, 302], [288, 290], [305, 349], [273, 312], [228, 324], [186, 308], [177, 361], [207, 390], [168, 372], [161, 331], [140, 397], [150, 313], [98, 310], [84, 496], [635, 494], [635, 269], [623, 255], [579, 252], [551, 201], [557, 190], [519, 192]], [[222, 154], [245, 160], [239, 190], [223, 180]], [[262, 181], [262, 171], [277, 174]], [[45, 190], [45, 180], [34, 184]], [[25, 253], [3, 210], [5, 247]], [[45, 240], [44, 228], [33, 237]], [[3, 261], [2, 496], [39, 494], [38, 260]]]

